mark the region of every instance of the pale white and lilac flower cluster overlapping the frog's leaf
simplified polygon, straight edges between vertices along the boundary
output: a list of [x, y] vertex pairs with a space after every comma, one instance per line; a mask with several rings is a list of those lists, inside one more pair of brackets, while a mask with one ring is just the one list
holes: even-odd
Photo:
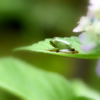
[[86, 16], [82, 16], [73, 32], [82, 32], [79, 40], [83, 51], [95, 48], [100, 40], [100, 0], [90, 0]]

